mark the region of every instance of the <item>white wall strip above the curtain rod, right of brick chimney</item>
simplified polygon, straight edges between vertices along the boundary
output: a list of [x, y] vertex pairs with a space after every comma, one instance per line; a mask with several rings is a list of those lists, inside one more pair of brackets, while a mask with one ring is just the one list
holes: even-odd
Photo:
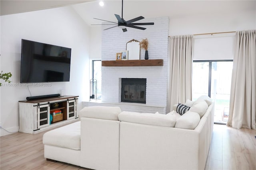
[[169, 36], [251, 29], [256, 29], [255, 10], [170, 18]]

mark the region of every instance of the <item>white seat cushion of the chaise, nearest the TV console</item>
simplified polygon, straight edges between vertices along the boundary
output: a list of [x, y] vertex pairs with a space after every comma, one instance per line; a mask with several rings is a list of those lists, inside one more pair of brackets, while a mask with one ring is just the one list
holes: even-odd
[[80, 121], [46, 132], [43, 144], [80, 150]]

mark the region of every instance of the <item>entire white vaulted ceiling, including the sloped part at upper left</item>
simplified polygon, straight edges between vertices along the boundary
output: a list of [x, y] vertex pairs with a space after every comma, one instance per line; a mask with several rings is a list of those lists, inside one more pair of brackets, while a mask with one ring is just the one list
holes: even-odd
[[[121, 16], [121, 0], [1, 0], [1, 15], [34, 10], [71, 6], [88, 24], [101, 24], [99, 18], [116, 22], [114, 14]], [[240, 11], [256, 11], [255, 0], [124, 0], [123, 18], [130, 20], [137, 16], [157, 18], [182, 18], [194, 15], [214, 15]], [[256, 15], [256, 14], [255, 14]]]

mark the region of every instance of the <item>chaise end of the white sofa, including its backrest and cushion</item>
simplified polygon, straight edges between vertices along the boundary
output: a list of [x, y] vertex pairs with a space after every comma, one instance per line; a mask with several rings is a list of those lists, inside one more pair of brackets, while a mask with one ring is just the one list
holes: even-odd
[[46, 132], [44, 157], [90, 169], [119, 169], [119, 107], [86, 107], [80, 121]]

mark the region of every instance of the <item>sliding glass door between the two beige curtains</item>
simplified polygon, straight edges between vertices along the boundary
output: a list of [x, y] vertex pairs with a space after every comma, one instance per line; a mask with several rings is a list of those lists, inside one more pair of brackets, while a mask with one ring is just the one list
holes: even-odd
[[228, 120], [232, 68], [233, 60], [193, 62], [192, 98], [207, 95], [215, 101], [215, 123]]

